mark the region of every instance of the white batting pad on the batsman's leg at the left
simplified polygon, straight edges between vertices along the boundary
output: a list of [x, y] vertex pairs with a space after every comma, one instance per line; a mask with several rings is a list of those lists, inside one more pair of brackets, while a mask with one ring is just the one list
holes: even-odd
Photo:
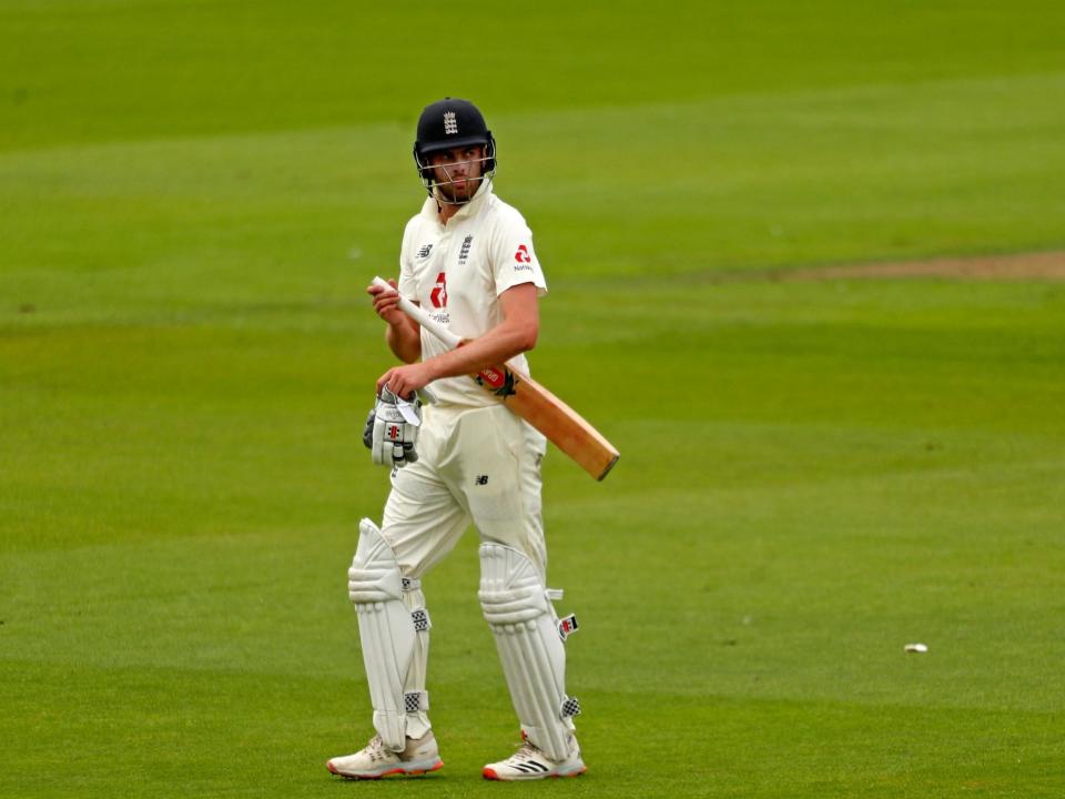
[[414, 656], [415, 623], [403, 601], [403, 577], [392, 547], [369, 519], [363, 519], [358, 530], [347, 594], [358, 615], [374, 728], [386, 747], [403, 751], [407, 744], [404, 682]]

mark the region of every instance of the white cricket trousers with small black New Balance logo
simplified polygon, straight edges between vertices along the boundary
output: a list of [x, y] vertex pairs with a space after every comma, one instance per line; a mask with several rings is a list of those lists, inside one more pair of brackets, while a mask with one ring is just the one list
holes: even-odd
[[393, 471], [382, 535], [405, 577], [420, 578], [470, 523], [524, 553], [546, 580], [540, 505], [544, 436], [503, 405], [427, 405], [418, 461]]

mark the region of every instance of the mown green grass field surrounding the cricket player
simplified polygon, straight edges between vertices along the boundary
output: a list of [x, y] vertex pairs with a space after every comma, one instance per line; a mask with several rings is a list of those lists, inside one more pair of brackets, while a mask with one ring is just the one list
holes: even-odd
[[[770, 279], [1065, 247], [1065, 7], [535, 9], [0, 0], [0, 796], [1065, 795], [1065, 283]], [[579, 780], [479, 777], [473, 532], [445, 769], [324, 769], [372, 731], [363, 289], [445, 94], [622, 452], [545, 466]]]

